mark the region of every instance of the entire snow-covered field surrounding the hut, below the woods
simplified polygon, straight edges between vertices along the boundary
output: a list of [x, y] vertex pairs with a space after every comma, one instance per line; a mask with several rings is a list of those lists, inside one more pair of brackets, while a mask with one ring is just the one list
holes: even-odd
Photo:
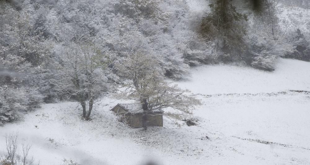
[[186, 81], [197, 94], [199, 125], [147, 131], [117, 122], [109, 111], [119, 100], [104, 98], [91, 121], [77, 103], [44, 104], [24, 121], [0, 127], [19, 132], [40, 164], [310, 164], [310, 63], [280, 59], [274, 72], [244, 66], [203, 65]]

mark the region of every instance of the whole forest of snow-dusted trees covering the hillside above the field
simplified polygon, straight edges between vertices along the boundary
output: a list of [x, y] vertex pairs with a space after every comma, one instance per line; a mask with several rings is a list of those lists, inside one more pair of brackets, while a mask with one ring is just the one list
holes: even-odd
[[106, 95], [190, 114], [200, 100], [166, 78], [201, 64], [273, 71], [280, 57], [310, 60], [309, 34], [279, 19], [277, 0], [246, 3], [251, 14], [235, 1], [210, 0], [202, 13], [185, 0], [0, 1], [0, 125], [66, 100], [89, 120]]

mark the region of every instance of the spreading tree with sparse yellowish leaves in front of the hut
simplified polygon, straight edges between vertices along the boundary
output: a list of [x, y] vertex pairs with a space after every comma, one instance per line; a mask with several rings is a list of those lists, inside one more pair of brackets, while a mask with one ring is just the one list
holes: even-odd
[[195, 105], [200, 104], [200, 100], [190, 95], [188, 90], [166, 82], [157, 64], [156, 58], [151, 55], [133, 53], [117, 66], [119, 72], [131, 80], [122, 85], [124, 90], [117, 96], [141, 103], [144, 129], [147, 128], [149, 112], [170, 107], [175, 111], [165, 113], [166, 116], [182, 118], [192, 114]]

